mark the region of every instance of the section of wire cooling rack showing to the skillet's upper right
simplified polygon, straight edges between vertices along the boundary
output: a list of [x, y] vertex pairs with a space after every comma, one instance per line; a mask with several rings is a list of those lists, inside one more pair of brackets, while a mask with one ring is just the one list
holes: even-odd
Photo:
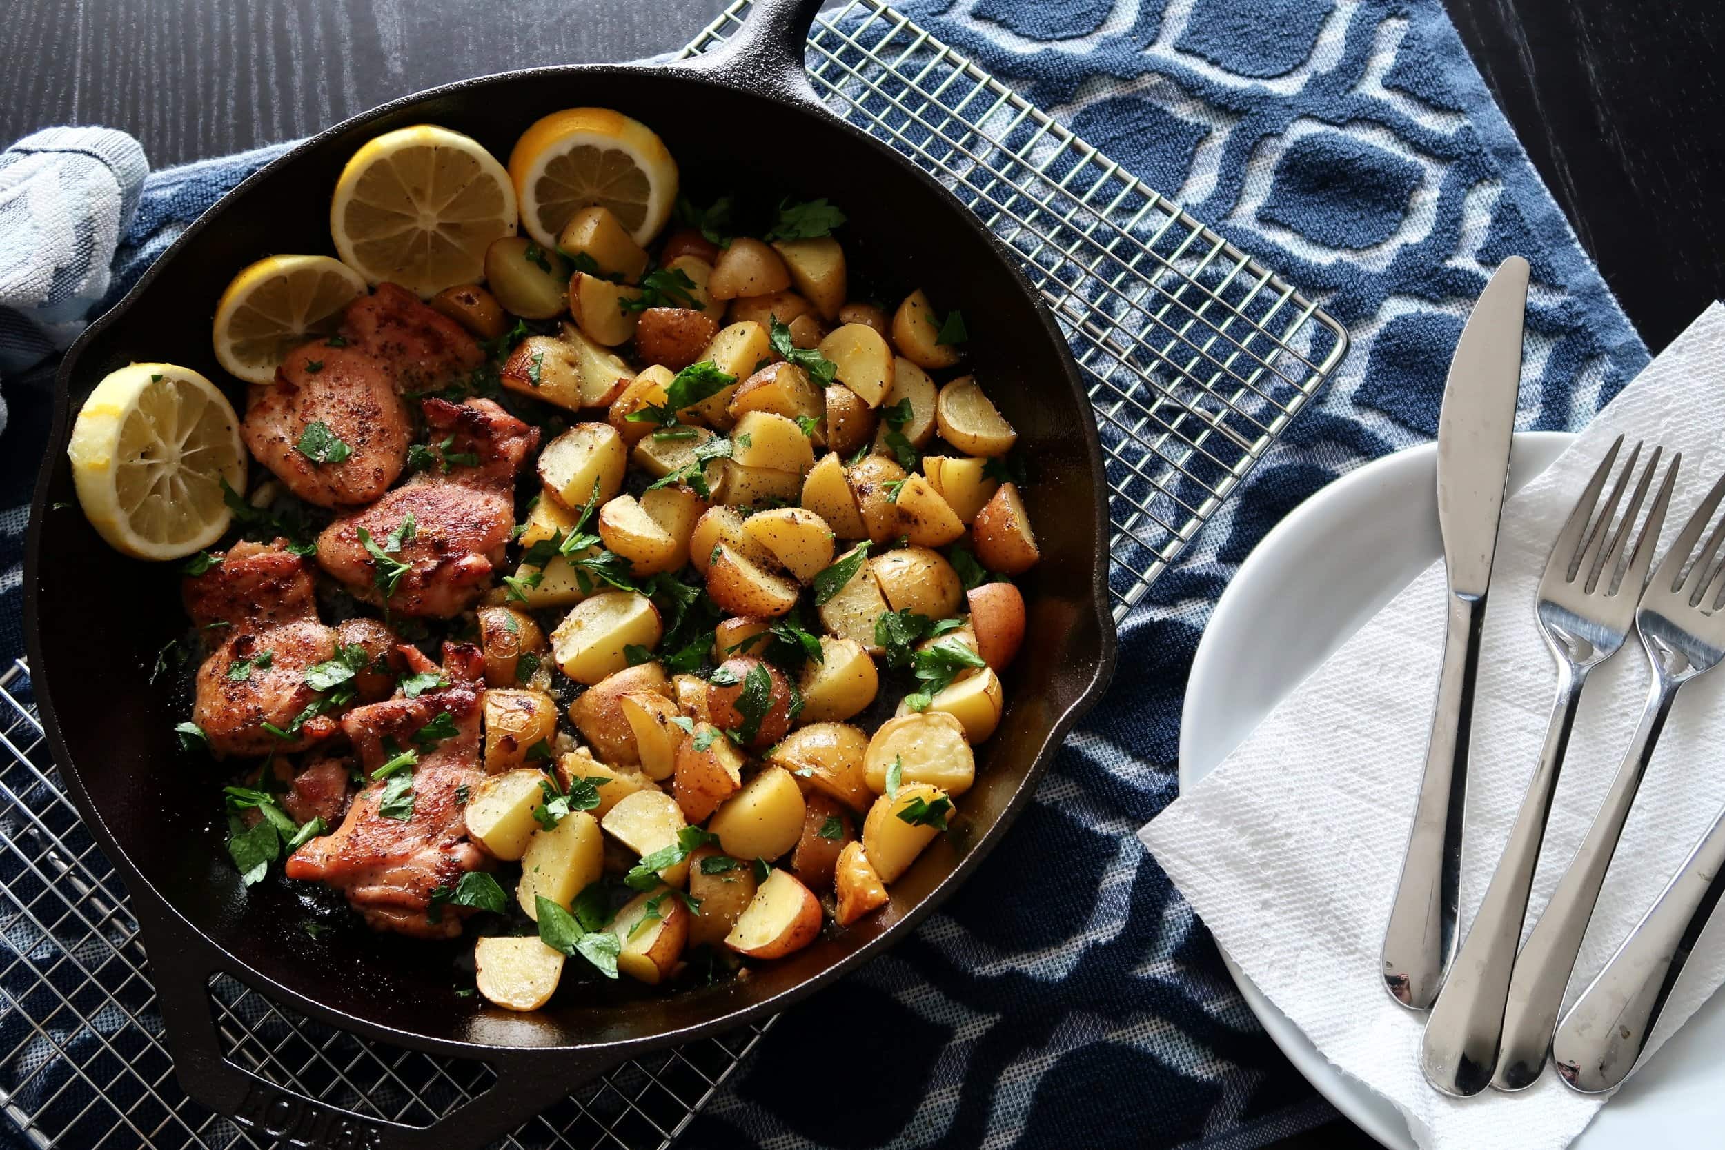
[[[742, 28], [737, 0], [683, 55]], [[1347, 352], [1280, 276], [880, 0], [814, 22], [816, 91], [1025, 264], [1090, 384], [1123, 619]]]

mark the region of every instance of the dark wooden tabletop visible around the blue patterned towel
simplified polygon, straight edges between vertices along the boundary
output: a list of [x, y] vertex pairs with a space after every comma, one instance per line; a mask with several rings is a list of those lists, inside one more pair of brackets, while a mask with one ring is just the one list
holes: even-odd
[[[12, 0], [0, 143], [112, 124], [155, 166], [292, 140], [419, 88], [681, 47], [726, 0]], [[1447, 0], [1623, 310], [1658, 352], [1725, 267], [1718, 0]], [[1283, 1150], [1375, 1143], [1335, 1122]]]

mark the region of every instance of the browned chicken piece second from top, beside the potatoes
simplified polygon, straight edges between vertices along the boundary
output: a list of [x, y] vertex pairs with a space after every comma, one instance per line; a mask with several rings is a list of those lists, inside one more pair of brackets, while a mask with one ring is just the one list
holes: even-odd
[[[504, 562], [514, 528], [516, 471], [538, 445], [538, 428], [492, 400], [426, 400], [424, 412], [433, 440], [454, 440], [445, 457], [471, 455], [478, 462], [457, 462], [447, 474], [424, 471], [366, 510], [336, 519], [317, 538], [317, 562], [366, 602], [404, 616], [447, 619], [466, 610]], [[386, 560], [380, 564], [366, 540]]]

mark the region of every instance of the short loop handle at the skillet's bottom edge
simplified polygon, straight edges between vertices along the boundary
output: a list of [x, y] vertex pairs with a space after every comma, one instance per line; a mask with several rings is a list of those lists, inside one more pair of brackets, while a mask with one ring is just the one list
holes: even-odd
[[[172, 926], [162, 929], [166, 916], [148, 917], [147, 941], [154, 938], [166, 943], [164, 934], [185, 941], [183, 931]], [[499, 1050], [495, 1059], [486, 1059], [497, 1072], [497, 1081], [433, 1124], [405, 1126], [381, 1121], [278, 1086], [226, 1059], [209, 997], [210, 976], [221, 971], [221, 966], [197, 952], [195, 945], [162, 950], [147, 947], [147, 955], [164, 955], [162, 962], [150, 962], [150, 978], [155, 983], [167, 1048], [174, 1059], [174, 1076], [191, 1098], [231, 1117], [262, 1145], [314, 1150], [485, 1147], [621, 1062], [619, 1055], [576, 1067], [559, 1060], [557, 1072], [547, 1074], [543, 1055], [535, 1055], [531, 1050]]]

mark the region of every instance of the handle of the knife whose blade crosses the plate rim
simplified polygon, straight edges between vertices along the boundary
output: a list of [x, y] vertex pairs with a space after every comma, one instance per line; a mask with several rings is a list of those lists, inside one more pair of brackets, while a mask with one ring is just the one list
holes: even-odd
[[1468, 731], [1473, 726], [1484, 626], [1485, 597], [1451, 591], [1444, 669], [1437, 679], [1420, 802], [1383, 931], [1383, 986], [1390, 998], [1413, 1010], [1432, 1005], [1456, 953]]

